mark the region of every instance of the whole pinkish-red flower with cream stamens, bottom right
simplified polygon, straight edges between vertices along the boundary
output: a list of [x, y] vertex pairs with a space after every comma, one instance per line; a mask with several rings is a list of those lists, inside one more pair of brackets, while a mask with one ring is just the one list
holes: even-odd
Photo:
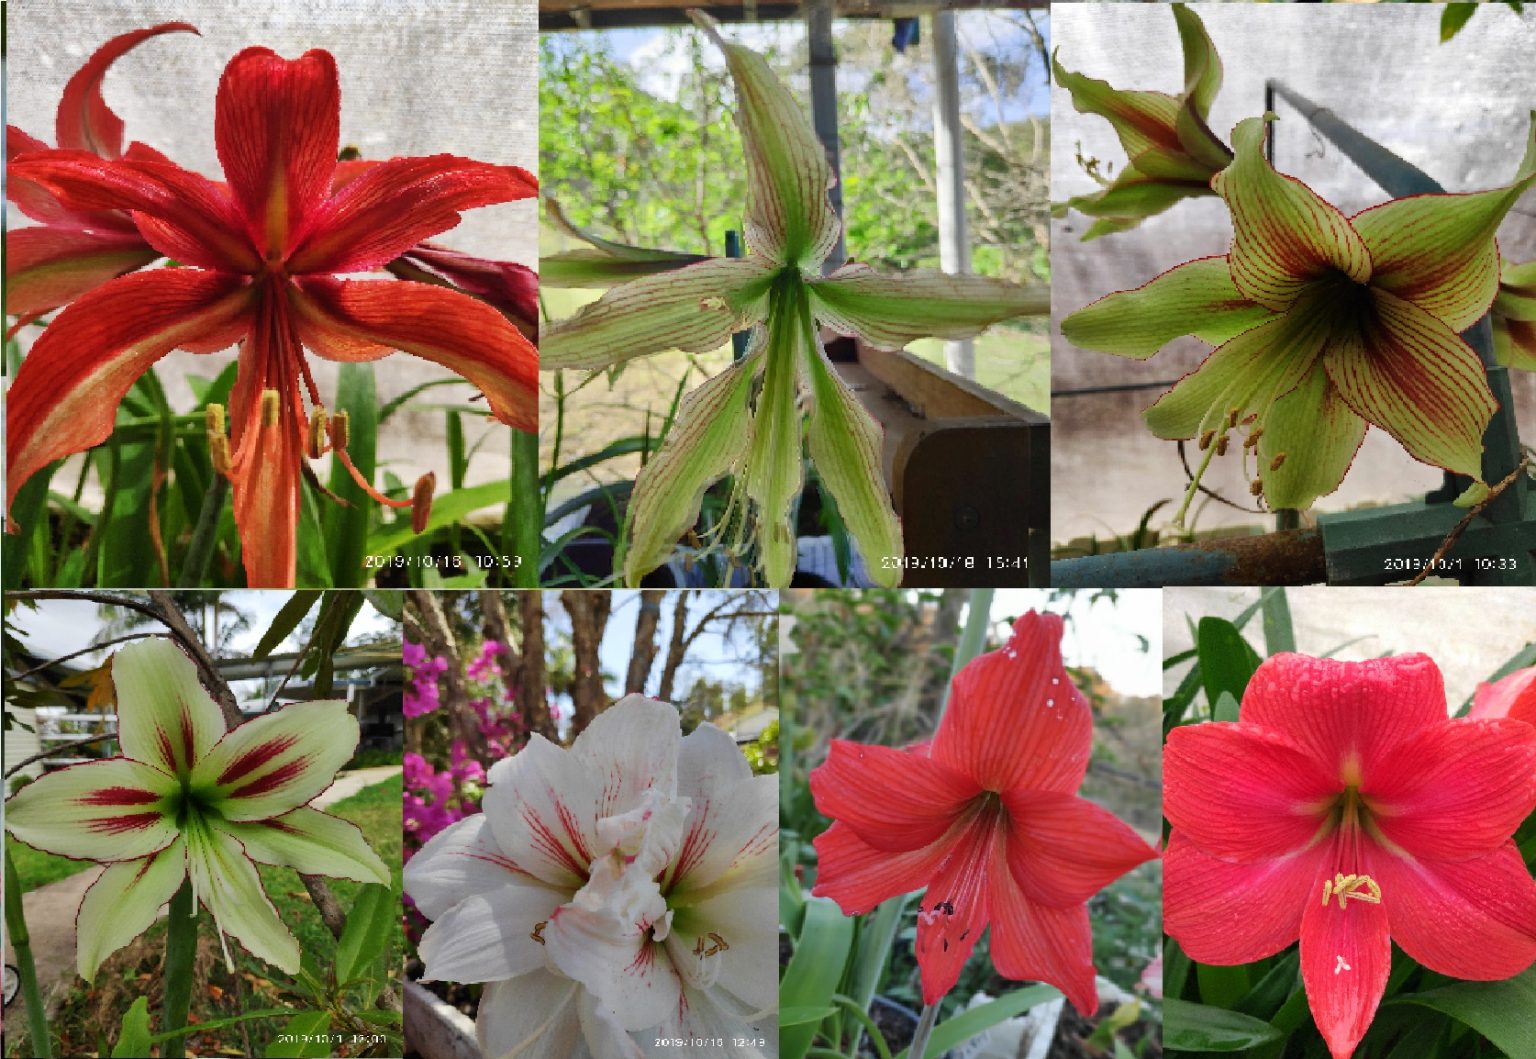
[[1167, 739], [1167, 933], [1218, 965], [1299, 938], [1333, 1059], [1370, 1027], [1393, 941], [1452, 978], [1536, 962], [1536, 881], [1510, 841], [1536, 808], [1536, 729], [1447, 715], [1424, 655], [1275, 655], [1236, 722]]

